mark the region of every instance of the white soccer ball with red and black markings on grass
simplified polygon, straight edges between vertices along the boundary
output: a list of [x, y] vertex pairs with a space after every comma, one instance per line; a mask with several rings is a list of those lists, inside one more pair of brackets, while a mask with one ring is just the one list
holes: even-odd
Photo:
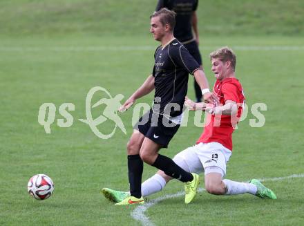
[[37, 200], [50, 198], [53, 191], [53, 180], [45, 174], [37, 174], [32, 176], [28, 181], [28, 193]]

